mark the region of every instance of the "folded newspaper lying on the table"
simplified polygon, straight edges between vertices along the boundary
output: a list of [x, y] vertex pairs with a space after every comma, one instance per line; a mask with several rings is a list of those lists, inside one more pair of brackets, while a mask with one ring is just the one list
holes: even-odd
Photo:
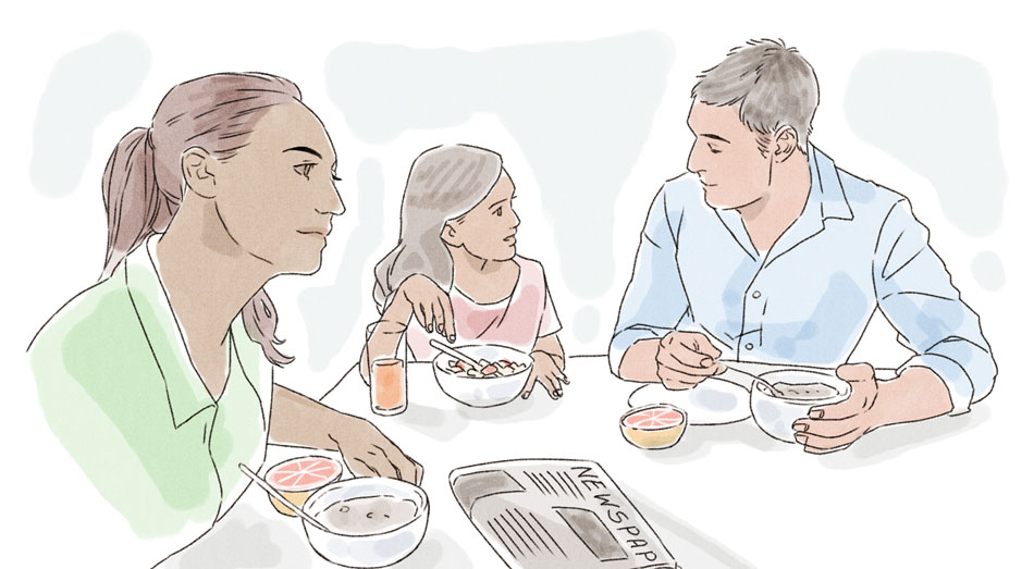
[[448, 482], [464, 512], [508, 567], [678, 567], [593, 461], [490, 462], [458, 468]]

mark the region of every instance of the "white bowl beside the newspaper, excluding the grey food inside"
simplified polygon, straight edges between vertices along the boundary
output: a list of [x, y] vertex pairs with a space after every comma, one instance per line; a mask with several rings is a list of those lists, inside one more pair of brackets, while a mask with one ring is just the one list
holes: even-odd
[[405, 559], [428, 529], [428, 496], [419, 486], [390, 478], [354, 478], [318, 490], [305, 500], [303, 510], [315, 517], [336, 502], [384, 495], [415, 502], [416, 517], [398, 528], [366, 535], [325, 532], [303, 518], [309, 544], [320, 557], [345, 567], [387, 567]]

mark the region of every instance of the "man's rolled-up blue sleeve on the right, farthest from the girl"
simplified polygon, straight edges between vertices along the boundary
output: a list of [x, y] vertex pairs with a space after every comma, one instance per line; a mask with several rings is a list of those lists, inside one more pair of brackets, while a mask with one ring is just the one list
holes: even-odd
[[997, 367], [980, 318], [962, 301], [928, 237], [909, 201], [895, 203], [877, 238], [873, 283], [898, 341], [915, 352], [898, 373], [930, 369], [948, 388], [950, 415], [961, 415], [990, 393]]

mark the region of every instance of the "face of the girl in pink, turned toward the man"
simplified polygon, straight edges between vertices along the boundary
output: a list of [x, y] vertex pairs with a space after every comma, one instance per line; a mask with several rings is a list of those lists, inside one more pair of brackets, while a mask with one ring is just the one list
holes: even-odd
[[514, 211], [514, 183], [506, 171], [489, 195], [467, 213], [445, 224], [442, 237], [453, 247], [487, 261], [507, 261], [517, 252], [517, 226]]

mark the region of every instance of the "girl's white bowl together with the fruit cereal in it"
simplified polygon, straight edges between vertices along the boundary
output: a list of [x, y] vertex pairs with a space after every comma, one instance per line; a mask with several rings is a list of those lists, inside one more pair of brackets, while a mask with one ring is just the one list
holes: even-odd
[[480, 371], [448, 354], [439, 354], [432, 368], [439, 386], [453, 399], [470, 407], [507, 404], [524, 389], [531, 374], [531, 356], [506, 346], [461, 346], [465, 356], [479, 362]]

